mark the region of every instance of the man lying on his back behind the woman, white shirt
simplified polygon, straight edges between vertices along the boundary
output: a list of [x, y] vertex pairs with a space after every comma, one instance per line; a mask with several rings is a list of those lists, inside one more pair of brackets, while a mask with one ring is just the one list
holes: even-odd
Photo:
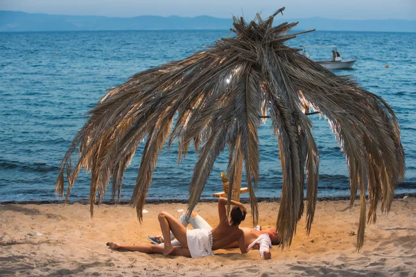
[[[227, 199], [225, 199], [227, 201]], [[188, 224], [191, 224], [193, 229], [207, 229], [211, 230], [211, 226], [209, 226], [208, 222], [206, 222], [200, 215], [197, 213], [192, 213], [191, 217], [187, 218], [187, 214], [183, 213], [182, 216], [179, 218], [179, 222], [182, 223], [183, 226], [187, 226]], [[268, 228], [268, 229], [252, 229], [248, 227], [239, 227], [244, 232], [244, 240], [245, 240], [245, 247], [248, 249], [259, 249], [259, 253], [261, 257], [263, 257], [265, 260], [268, 260], [271, 258], [271, 253], [269, 251], [271, 245], [277, 245], [279, 244], [279, 236], [277, 235], [277, 232], [275, 229]], [[173, 235], [171, 234], [171, 239], [173, 239]], [[159, 235], [153, 237], [148, 235], [148, 239], [155, 243], [159, 244], [160, 246], [164, 246], [163, 238]], [[177, 240], [172, 241], [173, 245], [180, 245], [180, 242]], [[237, 248], [239, 247], [237, 242], [233, 242], [232, 244], [227, 245], [224, 247], [227, 248]]]

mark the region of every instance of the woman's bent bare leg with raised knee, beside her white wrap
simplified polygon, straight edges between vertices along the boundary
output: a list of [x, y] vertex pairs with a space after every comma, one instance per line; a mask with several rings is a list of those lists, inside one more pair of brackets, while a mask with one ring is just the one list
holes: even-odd
[[180, 244], [186, 248], [188, 247], [187, 229], [175, 217], [169, 213], [161, 212], [159, 213], [158, 219], [165, 241], [164, 251], [162, 253], [164, 256], [168, 256], [174, 250], [171, 242], [171, 231]]

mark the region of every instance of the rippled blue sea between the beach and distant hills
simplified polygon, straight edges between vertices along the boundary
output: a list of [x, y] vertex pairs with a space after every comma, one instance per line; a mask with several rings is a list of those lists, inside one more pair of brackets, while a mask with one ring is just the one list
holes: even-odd
[[[0, 33], [0, 202], [56, 199], [60, 161], [83, 127], [85, 113], [106, 89], [139, 71], [187, 57], [227, 35], [227, 30]], [[353, 70], [334, 72], [351, 75], [396, 111], [407, 166], [397, 193], [416, 192], [415, 42], [416, 33], [324, 31], [288, 42], [290, 46], [336, 44], [343, 57], [356, 56]], [[311, 48], [309, 53], [316, 59], [330, 57], [331, 48]], [[311, 118], [320, 151], [318, 195], [349, 195], [347, 166], [336, 139], [324, 118]], [[259, 136], [257, 196], [279, 197], [281, 168], [270, 120], [261, 125]], [[125, 174], [122, 199], [132, 195], [141, 151], [142, 145]], [[179, 165], [176, 160], [177, 149], [165, 148], [148, 199], [187, 199], [196, 154], [190, 150]], [[227, 161], [227, 153], [216, 161], [203, 198], [222, 190], [220, 172], [227, 169]], [[69, 199], [87, 199], [89, 181], [89, 174], [82, 172]]]

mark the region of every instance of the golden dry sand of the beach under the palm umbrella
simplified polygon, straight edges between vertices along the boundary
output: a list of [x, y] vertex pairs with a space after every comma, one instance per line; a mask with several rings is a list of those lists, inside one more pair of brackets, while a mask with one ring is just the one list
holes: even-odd
[[[146, 235], [160, 233], [157, 213], [179, 217], [185, 204], [148, 204], [141, 225], [127, 205], [99, 206], [93, 219], [85, 204], [0, 205], [0, 276], [416, 276], [416, 199], [397, 199], [388, 215], [378, 213], [376, 224], [367, 225], [360, 253], [352, 233], [359, 207], [345, 211], [347, 205], [318, 202], [311, 235], [302, 218], [290, 249], [273, 247], [271, 260], [237, 249], [191, 259], [105, 246], [148, 244]], [[259, 208], [260, 224], [274, 226], [279, 204], [261, 202]], [[216, 224], [216, 203], [201, 203], [196, 211]]]

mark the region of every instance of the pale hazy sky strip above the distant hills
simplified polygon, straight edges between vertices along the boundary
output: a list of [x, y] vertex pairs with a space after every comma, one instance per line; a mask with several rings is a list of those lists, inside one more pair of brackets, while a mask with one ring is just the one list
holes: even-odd
[[178, 15], [246, 18], [286, 7], [284, 18], [416, 19], [416, 0], [0, 0], [0, 10], [51, 15]]

